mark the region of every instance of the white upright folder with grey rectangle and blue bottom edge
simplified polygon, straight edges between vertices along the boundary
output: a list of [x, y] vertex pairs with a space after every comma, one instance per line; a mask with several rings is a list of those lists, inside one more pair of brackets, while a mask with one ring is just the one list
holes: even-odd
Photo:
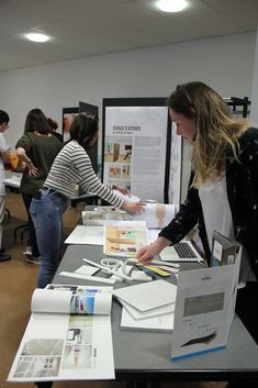
[[240, 257], [242, 248], [235, 264], [179, 273], [171, 361], [226, 347]]

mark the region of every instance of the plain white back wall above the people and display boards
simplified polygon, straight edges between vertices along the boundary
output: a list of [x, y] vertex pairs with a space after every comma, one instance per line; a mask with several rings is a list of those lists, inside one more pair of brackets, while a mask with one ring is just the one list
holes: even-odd
[[[14, 147], [33, 108], [61, 126], [63, 107], [77, 107], [79, 100], [101, 108], [102, 98], [167, 97], [177, 84], [191, 80], [223, 97], [250, 97], [255, 47], [254, 32], [2, 71], [0, 107], [11, 117], [5, 137]], [[184, 157], [184, 170], [188, 166]]]

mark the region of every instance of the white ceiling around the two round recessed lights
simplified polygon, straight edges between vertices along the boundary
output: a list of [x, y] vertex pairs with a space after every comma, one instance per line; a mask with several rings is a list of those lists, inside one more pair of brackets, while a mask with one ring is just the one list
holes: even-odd
[[[0, 70], [256, 31], [258, 0], [187, 0], [162, 13], [155, 0], [0, 0]], [[42, 30], [47, 43], [23, 34]]]

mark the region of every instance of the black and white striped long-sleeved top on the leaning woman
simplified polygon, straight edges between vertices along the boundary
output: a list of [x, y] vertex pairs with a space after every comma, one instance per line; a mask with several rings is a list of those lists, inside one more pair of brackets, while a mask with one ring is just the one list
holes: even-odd
[[56, 156], [44, 186], [72, 198], [76, 185], [117, 208], [123, 204], [123, 200], [99, 180], [85, 148], [70, 141]]

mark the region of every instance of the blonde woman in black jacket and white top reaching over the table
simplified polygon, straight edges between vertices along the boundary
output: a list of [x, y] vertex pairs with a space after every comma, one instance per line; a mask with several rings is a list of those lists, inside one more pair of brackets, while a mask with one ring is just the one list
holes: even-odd
[[246, 287], [238, 290], [236, 311], [258, 343], [258, 129], [234, 120], [221, 96], [203, 82], [177, 86], [168, 107], [177, 134], [192, 145], [188, 197], [137, 257], [150, 260], [197, 224], [207, 260], [213, 230], [238, 241], [244, 247], [239, 281]]

